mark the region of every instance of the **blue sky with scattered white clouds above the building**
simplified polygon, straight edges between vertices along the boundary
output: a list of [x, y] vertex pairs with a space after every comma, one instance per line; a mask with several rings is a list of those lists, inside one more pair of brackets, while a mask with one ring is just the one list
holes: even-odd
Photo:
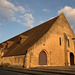
[[61, 12], [74, 31], [75, 0], [0, 0], [0, 43]]

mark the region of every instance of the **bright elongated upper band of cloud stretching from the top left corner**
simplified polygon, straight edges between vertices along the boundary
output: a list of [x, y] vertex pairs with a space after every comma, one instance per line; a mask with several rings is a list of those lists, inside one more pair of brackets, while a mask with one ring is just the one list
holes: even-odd
[[[22, 7], [22, 6], [18, 6], [16, 7], [14, 4], [10, 3], [9, 1], [7, 0], [0, 0], [0, 9], [7, 9], [9, 10], [10, 12], [13, 12], [13, 11], [17, 11], [17, 12], [25, 12], [25, 9]], [[6, 11], [6, 10], [5, 10]], [[8, 11], [8, 12], [9, 12]]]

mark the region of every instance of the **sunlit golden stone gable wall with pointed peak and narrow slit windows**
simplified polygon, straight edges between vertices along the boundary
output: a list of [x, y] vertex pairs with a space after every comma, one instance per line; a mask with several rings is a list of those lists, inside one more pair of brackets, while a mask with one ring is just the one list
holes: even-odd
[[[64, 33], [70, 41], [70, 47], [67, 46]], [[75, 55], [73, 36], [74, 33], [65, 16], [61, 14], [51, 29], [29, 48], [26, 56], [26, 67], [70, 66], [70, 52]], [[61, 45], [59, 44], [60, 37]], [[47, 54], [47, 65], [39, 65], [39, 54], [42, 50]]]

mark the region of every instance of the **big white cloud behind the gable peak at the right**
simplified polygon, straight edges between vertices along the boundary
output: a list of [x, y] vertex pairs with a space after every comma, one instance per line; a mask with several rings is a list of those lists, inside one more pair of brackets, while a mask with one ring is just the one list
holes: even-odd
[[58, 14], [60, 14], [62, 12], [67, 17], [70, 25], [72, 25], [72, 27], [74, 27], [74, 25], [75, 25], [75, 8], [72, 8], [70, 6], [65, 6], [63, 9], [58, 11]]

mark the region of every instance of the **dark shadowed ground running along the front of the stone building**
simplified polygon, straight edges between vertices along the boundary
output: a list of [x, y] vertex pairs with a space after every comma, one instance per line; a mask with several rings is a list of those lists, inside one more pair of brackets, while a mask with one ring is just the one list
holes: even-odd
[[[8, 74], [6, 74], [5, 72]], [[0, 73], [5, 73], [6, 75], [15, 75], [15, 74], [16, 75], [75, 75], [75, 66], [39, 67], [31, 69], [25, 69], [25, 68], [15, 69], [15, 68], [0, 67]]]

